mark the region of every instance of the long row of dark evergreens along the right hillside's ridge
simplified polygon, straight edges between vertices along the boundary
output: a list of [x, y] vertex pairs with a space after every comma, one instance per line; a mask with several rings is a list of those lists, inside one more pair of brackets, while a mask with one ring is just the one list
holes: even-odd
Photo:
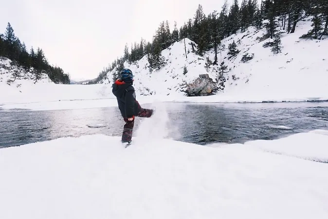
[[[130, 50], [127, 44], [124, 55], [112, 62], [107, 71], [116, 67], [114, 78], [117, 78], [125, 61], [131, 64], [145, 55], [150, 68], [160, 69], [165, 65], [161, 51], [184, 38], [189, 38], [198, 45], [196, 53], [200, 56], [214, 48], [216, 55], [214, 60], [211, 60], [211, 64], [219, 65], [217, 53], [221, 40], [236, 34], [238, 30], [245, 32], [250, 26], [256, 29], [265, 27], [267, 34], [264, 39], [273, 39], [266, 46], [271, 46], [272, 51], [277, 53], [280, 52], [280, 34], [282, 32], [293, 34], [297, 23], [304, 15], [311, 15], [313, 18], [312, 29], [302, 37], [321, 39], [322, 36], [328, 35], [328, 0], [262, 0], [261, 2], [242, 0], [240, 4], [238, 0], [234, 0], [230, 6], [226, 0], [220, 12], [213, 11], [207, 16], [199, 5], [195, 16], [188, 19], [180, 29], [175, 23], [174, 30], [171, 32], [168, 21], [163, 21], [154, 34], [152, 42], [141, 39], [140, 43], [131, 45]], [[267, 22], [263, 22], [264, 20]], [[278, 26], [281, 31], [277, 31]]]

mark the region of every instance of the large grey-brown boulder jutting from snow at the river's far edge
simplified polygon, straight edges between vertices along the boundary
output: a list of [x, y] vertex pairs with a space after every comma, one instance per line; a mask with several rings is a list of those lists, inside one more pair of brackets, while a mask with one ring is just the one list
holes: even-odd
[[188, 97], [208, 96], [218, 90], [217, 84], [208, 76], [208, 74], [200, 74], [200, 76], [190, 84], [186, 84]]

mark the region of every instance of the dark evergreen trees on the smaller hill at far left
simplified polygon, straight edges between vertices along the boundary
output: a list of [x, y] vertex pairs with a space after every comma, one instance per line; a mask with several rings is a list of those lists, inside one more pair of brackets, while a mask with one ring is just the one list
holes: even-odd
[[[26, 70], [33, 67], [36, 81], [41, 78], [42, 73], [46, 73], [56, 84], [70, 84], [70, 75], [64, 73], [60, 67], [49, 65], [42, 49], [37, 48], [35, 51], [32, 47], [29, 52], [27, 51], [25, 43], [21, 43], [15, 35], [10, 23], [7, 25], [5, 34], [0, 34], [0, 56], [9, 58]], [[17, 76], [19, 75], [15, 75], [15, 78]]]

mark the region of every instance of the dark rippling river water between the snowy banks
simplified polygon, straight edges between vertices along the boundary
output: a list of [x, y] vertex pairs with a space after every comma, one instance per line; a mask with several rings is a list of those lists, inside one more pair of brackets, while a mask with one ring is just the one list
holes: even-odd
[[[179, 130], [180, 136], [175, 139], [202, 145], [276, 139], [314, 129], [328, 129], [327, 102], [164, 103], [164, 107], [169, 127]], [[136, 119], [135, 129], [138, 129], [141, 120]], [[96, 123], [104, 127], [87, 126]], [[0, 110], [0, 148], [67, 136], [119, 136], [123, 124], [116, 107], [59, 111]]]

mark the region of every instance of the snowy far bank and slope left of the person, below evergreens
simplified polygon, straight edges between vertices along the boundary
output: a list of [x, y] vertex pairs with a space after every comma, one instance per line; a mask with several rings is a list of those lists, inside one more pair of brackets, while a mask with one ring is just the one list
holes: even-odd
[[[14, 80], [12, 73], [19, 71], [21, 77]], [[0, 105], [11, 103], [33, 103], [52, 101], [72, 101], [72, 100], [95, 100], [113, 98], [111, 88], [108, 85], [70, 85], [70, 84], [55, 84], [47, 75], [42, 75], [42, 79], [35, 83], [34, 75], [30, 71], [26, 71], [22, 67], [11, 64], [11, 61], [6, 58], [0, 58]], [[58, 103], [54, 103], [56, 105]], [[69, 104], [69, 103], [68, 103]], [[103, 106], [102, 103], [94, 104], [86, 102], [86, 105], [97, 107]], [[44, 105], [44, 104], [43, 104]], [[78, 104], [77, 104], [78, 106]], [[86, 108], [83, 106], [82, 108]], [[16, 108], [16, 106], [13, 106]], [[23, 105], [17, 108], [25, 108]], [[55, 107], [56, 108], [56, 107]], [[74, 108], [74, 106], [72, 106]], [[58, 108], [59, 109], [59, 108]]]

